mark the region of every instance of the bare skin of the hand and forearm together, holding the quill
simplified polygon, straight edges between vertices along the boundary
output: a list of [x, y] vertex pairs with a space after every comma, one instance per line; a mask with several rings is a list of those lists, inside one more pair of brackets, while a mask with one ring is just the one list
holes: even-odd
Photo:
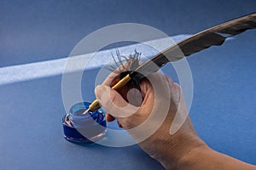
[[[147, 133], [149, 127], [144, 127], [143, 130], [135, 132], [131, 132], [130, 130], [147, 120], [148, 116], [154, 111], [153, 105], [155, 105], [156, 100], [159, 101], [159, 103], [165, 103], [165, 96], [168, 95], [168, 93], [166, 95], [157, 94], [158, 90], [154, 89], [148, 79], [143, 79], [140, 83], [140, 92], [134, 91], [133, 94], [130, 93], [130, 97], [127, 97], [129, 90], [134, 89], [134, 87], [122, 88], [119, 92], [109, 88], [114, 82], [118, 81], [116, 79], [117, 76], [116, 73], [112, 73], [102, 85], [97, 86], [95, 89], [96, 98], [99, 99], [101, 105], [108, 111], [106, 116], [107, 121], [112, 122], [117, 119], [119, 126], [124, 127], [125, 130], [130, 133], [131, 137], [137, 141], [138, 145], [147, 152], [149, 156], [159, 161], [163, 167], [172, 170], [256, 170], [256, 167], [253, 165], [236, 160], [230, 156], [225, 156], [209, 148], [195, 133], [189, 116], [185, 117], [182, 126], [176, 133], [170, 134], [170, 127], [174, 117], [177, 114], [188, 115], [188, 111], [180, 86], [172, 82], [171, 78], [160, 73], [150, 75], [149, 79], [150, 82], [157, 82], [158, 87], [162, 88], [164, 92], [169, 91], [169, 95], [171, 96], [171, 100], [168, 102], [169, 109], [160, 127], [148, 138], [140, 140], [140, 136]], [[141, 96], [142, 99], [139, 99], [139, 96]], [[129, 106], [128, 98], [132, 101], [132, 105], [130, 105], [131, 110], [127, 108], [120, 110], [120, 108], [127, 105]], [[156, 111], [157, 114], [160, 114], [160, 111]], [[127, 116], [127, 114], [129, 116]], [[150, 124], [156, 122], [157, 120], [155, 122], [153, 120]]]

